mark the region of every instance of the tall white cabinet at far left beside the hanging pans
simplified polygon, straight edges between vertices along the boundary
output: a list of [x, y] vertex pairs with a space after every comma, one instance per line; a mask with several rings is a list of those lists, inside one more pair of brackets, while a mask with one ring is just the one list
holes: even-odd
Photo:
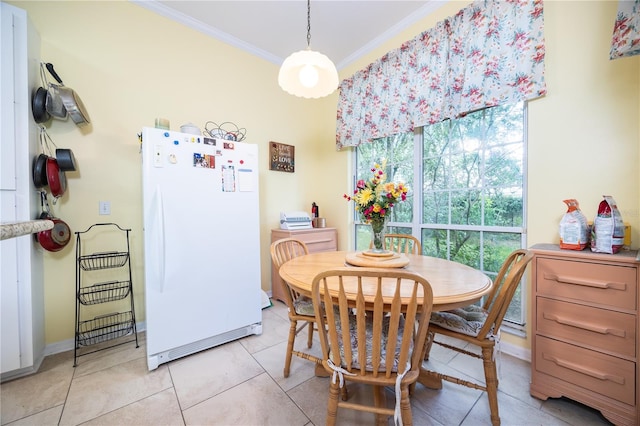
[[[40, 36], [26, 12], [0, 3], [0, 221], [37, 217], [39, 194], [31, 181], [39, 129], [31, 93], [40, 86]], [[42, 250], [30, 235], [0, 242], [2, 380], [37, 370], [44, 351]]]

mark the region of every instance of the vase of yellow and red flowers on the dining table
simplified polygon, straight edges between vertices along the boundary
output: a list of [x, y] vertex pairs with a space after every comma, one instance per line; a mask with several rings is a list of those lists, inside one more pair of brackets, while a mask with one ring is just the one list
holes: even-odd
[[347, 201], [354, 201], [355, 209], [362, 215], [363, 221], [371, 225], [371, 251], [374, 254], [386, 252], [384, 236], [391, 211], [396, 203], [407, 199], [408, 188], [404, 183], [387, 182], [385, 168], [386, 161], [375, 164], [371, 168], [371, 178], [358, 180], [353, 195], [344, 194]]

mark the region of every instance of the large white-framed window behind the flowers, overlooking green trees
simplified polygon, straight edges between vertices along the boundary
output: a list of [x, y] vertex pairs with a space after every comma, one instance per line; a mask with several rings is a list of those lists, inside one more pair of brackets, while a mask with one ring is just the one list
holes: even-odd
[[[424, 255], [454, 260], [494, 277], [525, 241], [525, 104], [486, 108], [455, 120], [381, 138], [356, 149], [356, 176], [387, 159], [390, 180], [411, 192], [394, 208], [390, 231], [412, 234]], [[370, 231], [356, 218], [356, 250]], [[505, 321], [524, 325], [518, 289]]]

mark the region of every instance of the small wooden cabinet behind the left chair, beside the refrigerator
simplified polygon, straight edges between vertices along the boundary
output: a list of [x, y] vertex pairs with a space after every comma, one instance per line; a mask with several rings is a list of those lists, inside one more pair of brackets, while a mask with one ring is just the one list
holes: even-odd
[[[338, 232], [335, 228], [310, 228], [289, 231], [286, 229], [271, 230], [271, 243], [283, 238], [296, 238], [307, 245], [309, 253], [338, 250]], [[284, 302], [282, 279], [271, 264], [271, 296]]]

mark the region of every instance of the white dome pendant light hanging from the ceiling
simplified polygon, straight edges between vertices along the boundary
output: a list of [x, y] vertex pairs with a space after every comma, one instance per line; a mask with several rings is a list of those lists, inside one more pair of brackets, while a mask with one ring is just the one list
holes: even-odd
[[307, 49], [292, 53], [278, 73], [285, 92], [302, 98], [322, 98], [338, 88], [338, 71], [331, 59], [309, 47], [311, 44], [311, 0], [307, 0]]

